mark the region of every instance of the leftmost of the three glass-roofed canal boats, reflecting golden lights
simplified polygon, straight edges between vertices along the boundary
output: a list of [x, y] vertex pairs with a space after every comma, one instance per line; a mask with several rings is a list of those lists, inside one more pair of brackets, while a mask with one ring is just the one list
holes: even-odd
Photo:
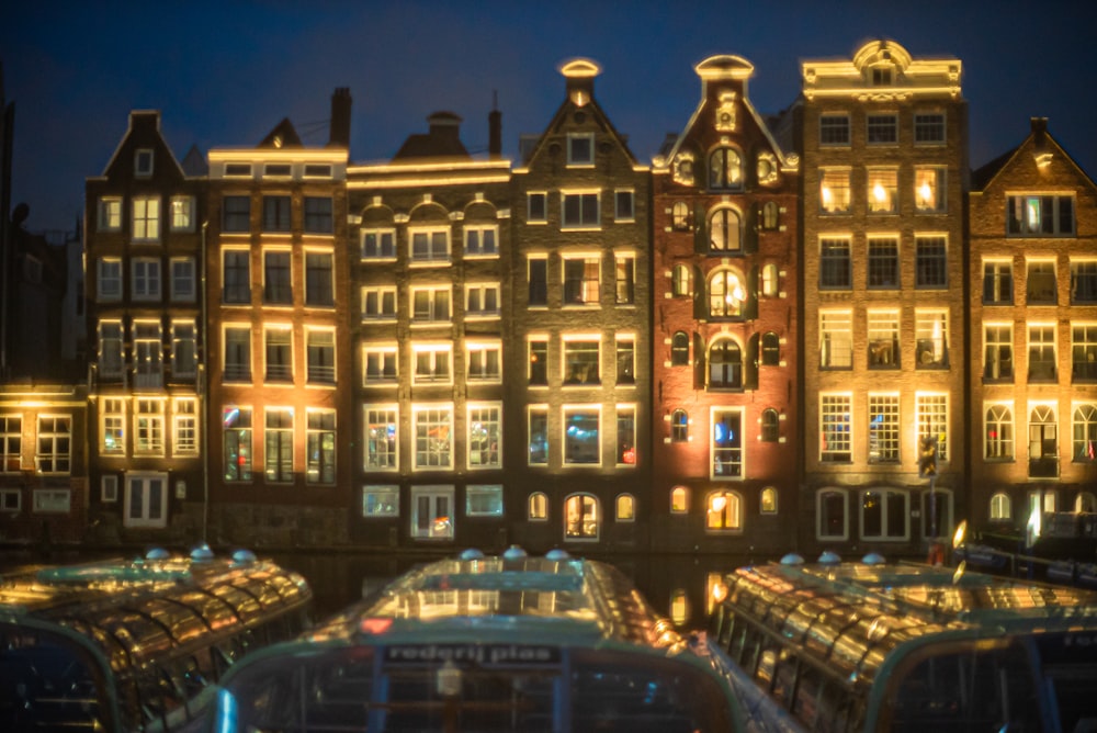
[[307, 628], [305, 579], [247, 551], [0, 576], [0, 731], [195, 730], [211, 684]]

